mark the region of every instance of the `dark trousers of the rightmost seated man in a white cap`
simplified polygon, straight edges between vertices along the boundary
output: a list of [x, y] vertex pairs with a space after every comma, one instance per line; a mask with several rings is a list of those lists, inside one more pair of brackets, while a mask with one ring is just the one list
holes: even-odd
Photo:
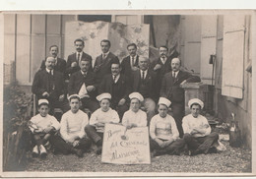
[[208, 153], [208, 150], [218, 141], [219, 135], [214, 132], [205, 137], [195, 138], [190, 134], [184, 134], [183, 139], [189, 150], [195, 151], [195, 153]]

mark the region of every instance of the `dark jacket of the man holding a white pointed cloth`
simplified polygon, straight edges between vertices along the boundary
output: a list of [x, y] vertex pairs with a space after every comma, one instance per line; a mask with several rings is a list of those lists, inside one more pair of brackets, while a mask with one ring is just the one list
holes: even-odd
[[[68, 85], [69, 95], [78, 93], [84, 83], [85, 83], [86, 87], [95, 86], [95, 88], [97, 88], [94, 72], [88, 71], [86, 78], [83, 76], [81, 71], [78, 71], [78, 72], [75, 72], [74, 74], [72, 74], [70, 77], [70, 80], [69, 80], [69, 85]], [[96, 90], [88, 92], [88, 94], [91, 97], [95, 97]]]

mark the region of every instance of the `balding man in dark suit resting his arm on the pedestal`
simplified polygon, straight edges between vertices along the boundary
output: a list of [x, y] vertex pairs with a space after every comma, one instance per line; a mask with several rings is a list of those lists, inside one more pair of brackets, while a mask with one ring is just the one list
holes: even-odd
[[182, 86], [185, 83], [196, 83], [200, 82], [200, 78], [192, 76], [187, 72], [180, 70], [181, 61], [178, 58], [173, 58], [171, 60], [171, 72], [164, 75], [161, 88], [160, 96], [166, 97], [171, 101], [171, 113], [175, 119], [179, 136], [183, 136], [182, 129], [182, 118], [185, 115], [185, 94]]

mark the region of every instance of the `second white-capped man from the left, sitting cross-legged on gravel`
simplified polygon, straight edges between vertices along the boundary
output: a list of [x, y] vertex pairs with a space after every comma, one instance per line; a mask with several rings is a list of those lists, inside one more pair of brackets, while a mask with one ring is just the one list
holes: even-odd
[[85, 127], [89, 123], [88, 115], [79, 109], [81, 105], [79, 95], [70, 95], [69, 104], [71, 109], [64, 113], [61, 118], [60, 136], [55, 136], [51, 143], [55, 153], [76, 153], [79, 157], [83, 157], [83, 153], [92, 144], [85, 133]]

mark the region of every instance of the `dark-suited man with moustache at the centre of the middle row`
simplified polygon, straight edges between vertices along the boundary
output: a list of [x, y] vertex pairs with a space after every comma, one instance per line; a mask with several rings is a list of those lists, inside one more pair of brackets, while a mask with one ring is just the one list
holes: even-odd
[[98, 93], [108, 92], [111, 94], [111, 108], [115, 109], [122, 119], [125, 111], [129, 109], [129, 94], [131, 84], [129, 78], [120, 74], [121, 66], [119, 63], [111, 64], [111, 74], [106, 75], [101, 81]]

